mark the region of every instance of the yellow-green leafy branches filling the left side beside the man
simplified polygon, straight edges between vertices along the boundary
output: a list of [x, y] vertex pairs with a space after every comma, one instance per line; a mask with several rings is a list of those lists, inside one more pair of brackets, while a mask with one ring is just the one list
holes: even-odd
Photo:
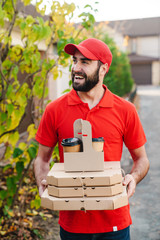
[[[22, 2], [25, 6], [31, 3], [30, 0]], [[0, 160], [6, 161], [2, 171], [3, 186], [0, 188], [0, 221], [3, 224], [6, 218], [14, 217], [15, 204], [24, 201], [24, 188], [27, 189], [30, 181], [29, 170], [38, 149], [34, 138], [48, 96], [48, 73], [57, 79], [61, 74], [58, 65], [66, 67], [70, 64], [69, 56], [63, 50], [65, 44], [77, 43], [82, 29], [92, 28], [94, 23], [93, 15], [85, 11], [79, 16], [82, 20], [80, 30], [75, 29], [71, 23], [74, 3], [61, 5], [58, 1], [52, 1], [47, 20], [43, 18], [45, 6], [40, 9], [42, 0], [36, 2], [36, 11], [41, 14], [37, 17], [23, 15], [17, 3], [18, 0], [0, 1], [0, 144], [5, 149]], [[87, 5], [86, 8], [91, 9], [91, 6]], [[18, 39], [13, 38], [14, 34], [18, 34]], [[50, 53], [54, 52], [55, 45], [58, 56], [56, 54], [54, 58]], [[22, 141], [19, 125], [29, 101], [34, 106], [35, 99], [38, 105], [32, 114], [33, 123], [28, 126], [27, 135]], [[57, 146], [52, 157], [59, 159]], [[30, 193], [34, 195], [30, 201], [31, 208], [38, 209], [38, 189], [33, 188]], [[2, 232], [5, 234], [5, 231]], [[34, 234], [38, 236], [37, 230]]]

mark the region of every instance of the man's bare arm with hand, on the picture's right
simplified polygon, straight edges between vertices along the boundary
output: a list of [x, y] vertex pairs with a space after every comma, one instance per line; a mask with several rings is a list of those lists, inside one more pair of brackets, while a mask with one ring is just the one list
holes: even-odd
[[136, 185], [149, 170], [149, 160], [144, 146], [129, 151], [133, 159], [133, 167], [131, 173], [125, 176], [123, 185], [127, 186], [128, 197], [131, 197], [135, 193]]

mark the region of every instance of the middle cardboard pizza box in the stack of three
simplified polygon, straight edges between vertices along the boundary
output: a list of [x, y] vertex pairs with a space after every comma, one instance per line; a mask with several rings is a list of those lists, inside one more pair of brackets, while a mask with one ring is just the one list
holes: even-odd
[[122, 184], [109, 187], [55, 187], [48, 186], [48, 194], [54, 197], [109, 197], [122, 193]]

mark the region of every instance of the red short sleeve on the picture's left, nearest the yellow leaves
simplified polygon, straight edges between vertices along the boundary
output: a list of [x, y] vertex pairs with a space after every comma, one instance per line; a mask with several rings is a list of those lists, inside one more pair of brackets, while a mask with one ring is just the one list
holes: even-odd
[[54, 112], [50, 110], [46, 107], [38, 127], [36, 140], [42, 145], [54, 147], [58, 138], [55, 130]]

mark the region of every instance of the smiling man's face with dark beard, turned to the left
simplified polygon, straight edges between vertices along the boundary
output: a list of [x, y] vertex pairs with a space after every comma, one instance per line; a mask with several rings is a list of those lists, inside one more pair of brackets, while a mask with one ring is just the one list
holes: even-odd
[[79, 51], [73, 56], [72, 85], [74, 90], [88, 92], [99, 82], [98, 61], [84, 57]]

